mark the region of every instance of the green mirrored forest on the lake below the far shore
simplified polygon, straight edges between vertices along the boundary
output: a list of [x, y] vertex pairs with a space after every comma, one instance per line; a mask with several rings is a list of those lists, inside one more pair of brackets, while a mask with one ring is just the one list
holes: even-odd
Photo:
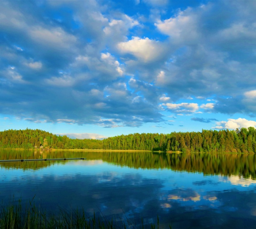
[[[83, 152], [83, 151], [32, 151], [1, 150], [0, 160], [45, 159], [45, 158], [87, 158], [102, 160], [118, 166], [142, 169], [172, 169], [174, 171], [199, 172], [204, 175], [238, 175], [247, 179], [256, 178], [256, 154], [158, 154], [152, 152]], [[55, 162], [9, 162], [0, 163], [5, 168], [40, 169]], [[92, 162], [99, 163], [99, 162]], [[234, 181], [230, 179], [230, 181]]]

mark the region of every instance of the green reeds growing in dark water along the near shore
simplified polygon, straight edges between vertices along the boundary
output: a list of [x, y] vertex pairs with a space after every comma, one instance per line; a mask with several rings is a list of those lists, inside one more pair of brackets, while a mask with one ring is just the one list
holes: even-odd
[[[33, 200], [32, 200], [33, 202]], [[36, 207], [31, 201], [24, 209], [21, 201], [18, 204], [2, 206], [0, 209], [0, 228], [1, 229], [43, 229], [43, 228], [160, 228], [160, 220], [156, 217], [156, 224], [146, 224], [141, 219], [140, 224], [133, 220], [121, 218], [106, 219], [104, 215], [93, 217], [87, 215], [84, 209], [65, 211], [60, 209], [58, 213], [46, 213], [40, 207]], [[172, 228], [169, 225], [169, 228]]]

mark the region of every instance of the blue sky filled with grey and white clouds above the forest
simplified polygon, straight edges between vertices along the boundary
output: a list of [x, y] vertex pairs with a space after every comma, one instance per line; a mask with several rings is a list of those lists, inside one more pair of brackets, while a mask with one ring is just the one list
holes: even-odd
[[256, 127], [256, 1], [0, 1], [0, 131]]

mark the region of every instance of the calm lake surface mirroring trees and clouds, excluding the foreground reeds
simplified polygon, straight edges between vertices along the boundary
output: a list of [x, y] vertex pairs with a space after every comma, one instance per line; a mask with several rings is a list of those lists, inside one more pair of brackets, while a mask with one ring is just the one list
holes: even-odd
[[256, 228], [254, 154], [0, 151], [0, 160], [78, 157], [87, 160], [0, 163], [2, 204], [35, 196], [47, 211], [83, 208], [138, 226], [159, 216], [161, 228]]

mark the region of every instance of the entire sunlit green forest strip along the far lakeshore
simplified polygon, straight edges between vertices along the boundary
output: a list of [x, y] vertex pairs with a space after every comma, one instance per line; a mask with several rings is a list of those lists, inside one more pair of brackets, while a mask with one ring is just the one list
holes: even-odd
[[133, 133], [96, 139], [70, 139], [43, 130], [0, 132], [0, 149], [97, 149], [164, 152], [256, 152], [256, 129], [202, 132]]

